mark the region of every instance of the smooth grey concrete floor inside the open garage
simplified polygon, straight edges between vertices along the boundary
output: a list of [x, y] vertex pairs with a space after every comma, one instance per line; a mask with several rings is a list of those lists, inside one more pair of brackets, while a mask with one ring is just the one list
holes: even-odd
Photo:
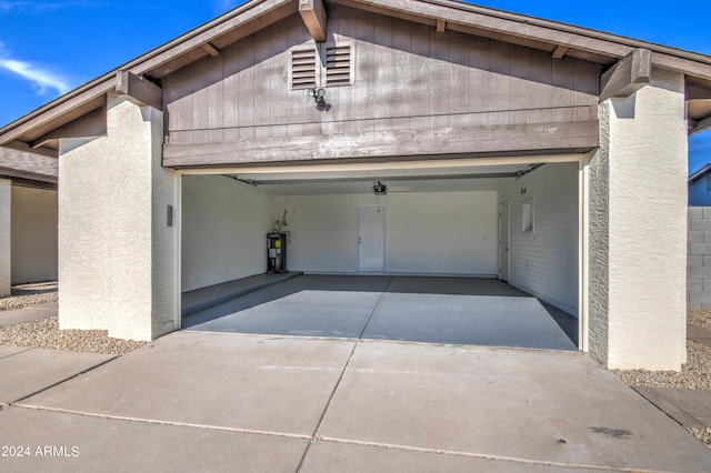
[[493, 279], [300, 275], [186, 316], [183, 329], [577, 350], [578, 321]]

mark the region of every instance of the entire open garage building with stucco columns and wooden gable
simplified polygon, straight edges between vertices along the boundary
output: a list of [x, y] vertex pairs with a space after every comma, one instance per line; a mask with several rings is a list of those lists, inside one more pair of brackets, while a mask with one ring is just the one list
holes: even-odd
[[59, 158], [64, 329], [179, 330], [183, 293], [264, 273], [281, 227], [288, 274], [500, 279], [603, 365], [679, 370], [710, 68], [467, 3], [251, 0], [0, 145]]

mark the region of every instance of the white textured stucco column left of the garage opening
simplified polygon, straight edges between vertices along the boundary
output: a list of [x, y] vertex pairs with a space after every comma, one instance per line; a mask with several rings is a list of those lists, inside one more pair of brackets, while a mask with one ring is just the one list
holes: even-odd
[[161, 167], [163, 117], [110, 97], [108, 134], [61, 140], [62, 329], [153, 340], [176, 330], [176, 175]]

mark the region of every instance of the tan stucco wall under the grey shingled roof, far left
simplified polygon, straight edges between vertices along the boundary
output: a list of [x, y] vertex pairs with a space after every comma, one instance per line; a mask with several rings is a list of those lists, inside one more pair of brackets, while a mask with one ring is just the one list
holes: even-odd
[[57, 192], [12, 187], [12, 284], [57, 280]]

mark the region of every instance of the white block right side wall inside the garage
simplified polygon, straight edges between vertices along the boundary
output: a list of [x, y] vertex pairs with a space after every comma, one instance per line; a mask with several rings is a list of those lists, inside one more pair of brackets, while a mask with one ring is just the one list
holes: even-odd
[[[499, 202], [509, 202], [509, 283], [575, 316], [578, 168], [545, 164], [499, 189]], [[531, 199], [534, 228], [523, 232], [523, 202]]]

